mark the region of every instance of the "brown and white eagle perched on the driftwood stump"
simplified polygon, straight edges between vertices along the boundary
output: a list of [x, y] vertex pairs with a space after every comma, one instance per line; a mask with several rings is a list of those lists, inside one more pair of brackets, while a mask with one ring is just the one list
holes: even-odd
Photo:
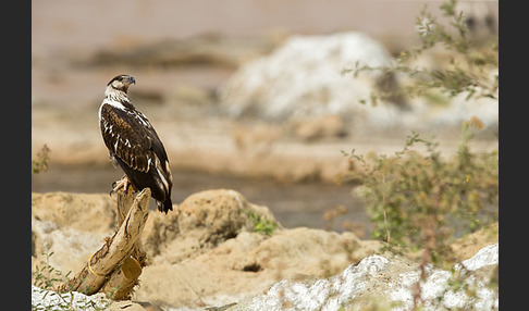
[[99, 126], [109, 159], [125, 173], [113, 184], [110, 194], [120, 187], [126, 190], [128, 183], [136, 190], [150, 188], [158, 210], [167, 214], [173, 210], [171, 166], [160, 137], [128, 98], [126, 91], [132, 84], [136, 79], [130, 75], [113, 77], [99, 107]]

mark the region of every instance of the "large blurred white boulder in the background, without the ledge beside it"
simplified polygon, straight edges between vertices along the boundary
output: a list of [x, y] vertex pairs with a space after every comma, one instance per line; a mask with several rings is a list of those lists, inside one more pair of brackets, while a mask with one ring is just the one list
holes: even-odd
[[293, 36], [270, 55], [242, 66], [220, 89], [221, 105], [232, 116], [266, 120], [344, 116], [369, 98], [381, 76], [353, 79], [341, 73], [357, 62], [383, 66], [392, 60], [380, 42], [362, 33]]

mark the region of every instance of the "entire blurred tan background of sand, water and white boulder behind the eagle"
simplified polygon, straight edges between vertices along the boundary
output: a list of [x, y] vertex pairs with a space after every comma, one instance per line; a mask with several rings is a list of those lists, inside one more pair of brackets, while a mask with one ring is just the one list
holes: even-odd
[[[457, 148], [460, 123], [484, 123], [476, 148], [497, 147], [497, 100], [362, 104], [380, 77], [342, 74], [391, 63], [418, 45], [421, 9], [442, 1], [32, 1], [32, 158], [50, 149], [32, 190], [108, 192], [123, 173], [108, 160], [97, 112], [107, 83], [130, 74], [130, 96], [171, 161], [173, 202], [232, 188], [285, 227], [369, 233], [354, 185], [336, 183], [342, 150], [393, 154], [411, 129]], [[497, 36], [497, 1], [462, 1], [476, 41]], [[433, 66], [442, 53], [417, 60]], [[382, 85], [398, 85], [398, 77]], [[329, 216], [330, 212], [340, 216]]]

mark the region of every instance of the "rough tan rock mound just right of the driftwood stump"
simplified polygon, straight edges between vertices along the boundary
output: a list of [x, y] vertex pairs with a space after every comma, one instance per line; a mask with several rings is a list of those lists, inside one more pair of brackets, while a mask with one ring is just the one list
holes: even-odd
[[187, 197], [168, 215], [151, 212], [144, 229], [144, 246], [152, 261], [177, 263], [243, 231], [254, 231], [249, 213], [282, 228], [268, 208], [249, 203], [235, 190], [205, 190]]

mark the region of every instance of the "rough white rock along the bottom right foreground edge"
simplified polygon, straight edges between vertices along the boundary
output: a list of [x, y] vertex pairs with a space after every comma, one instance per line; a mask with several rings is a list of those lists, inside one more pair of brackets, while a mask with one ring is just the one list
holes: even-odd
[[[464, 264], [468, 270], [496, 264], [499, 262], [497, 252], [499, 245], [491, 245], [481, 249], [471, 259], [464, 261]], [[395, 271], [402, 270], [403, 266], [409, 271], [395, 275]], [[460, 269], [460, 264], [456, 266]], [[420, 283], [426, 310], [438, 310], [441, 307], [497, 309], [497, 291], [487, 287], [483, 282], [473, 276], [466, 277], [464, 281], [469, 286], [476, 286], [476, 297], [472, 298], [468, 297], [464, 289], [453, 291], [450, 288], [447, 282], [452, 277], [451, 272], [438, 270], [432, 265], [428, 265], [426, 271], [428, 277]], [[343, 307], [347, 307], [347, 310], [350, 308], [356, 310], [355, 299], [362, 296], [369, 297], [369, 295], [374, 295], [374, 299], [387, 297], [391, 301], [401, 302], [391, 310], [411, 310], [414, 308], [413, 293], [419, 279], [420, 271], [417, 264], [406, 264], [396, 257], [386, 259], [381, 256], [370, 256], [357, 265], [349, 265], [342, 274], [330, 278], [316, 282], [280, 281], [266, 294], [257, 295], [229, 310], [335, 311]]]

